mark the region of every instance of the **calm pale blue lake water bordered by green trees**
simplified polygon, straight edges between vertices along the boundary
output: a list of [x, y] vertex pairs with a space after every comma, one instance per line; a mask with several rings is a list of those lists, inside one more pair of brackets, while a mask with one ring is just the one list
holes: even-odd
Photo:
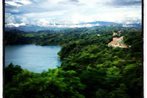
[[33, 72], [47, 71], [60, 66], [60, 46], [13, 45], [5, 47], [5, 66], [20, 65]]

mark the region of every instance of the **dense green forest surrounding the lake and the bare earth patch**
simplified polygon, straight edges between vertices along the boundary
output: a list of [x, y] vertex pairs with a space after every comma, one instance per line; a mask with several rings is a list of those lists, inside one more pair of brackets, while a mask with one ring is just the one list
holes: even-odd
[[[128, 48], [108, 47], [121, 30]], [[119, 37], [118, 36], [118, 37]], [[4, 44], [61, 45], [62, 64], [42, 73], [4, 68], [5, 98], [143, 98], [142, 30], [120, 27], [7, 31]]]

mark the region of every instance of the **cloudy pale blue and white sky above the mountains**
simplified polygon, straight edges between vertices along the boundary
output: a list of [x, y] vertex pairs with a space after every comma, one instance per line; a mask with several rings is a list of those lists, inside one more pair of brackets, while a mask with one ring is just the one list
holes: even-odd
[[6, 26], [141, 20], [141, 0], [5, 0]]

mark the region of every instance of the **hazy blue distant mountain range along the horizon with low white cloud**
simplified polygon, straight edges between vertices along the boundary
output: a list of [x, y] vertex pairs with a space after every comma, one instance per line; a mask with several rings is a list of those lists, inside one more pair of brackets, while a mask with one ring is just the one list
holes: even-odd
[[44, 30], [54, 30], [59, 31], [66, 28], [90, 28], [96, 26], [119, 26], [119, 27], [135, 27], [141, 28], [141, 23], [115, 23], [115, 22], [107, 22], [107, 21], [95, 21], [95, 22], [83, 22], [79, 24], [56, 24], [49, 26], [37, 26], [37, 25], [25, 25], [19, 27], [5, 27], [5, 30], [13, 30], [18, 29], [25, 32], [38, 32]]

